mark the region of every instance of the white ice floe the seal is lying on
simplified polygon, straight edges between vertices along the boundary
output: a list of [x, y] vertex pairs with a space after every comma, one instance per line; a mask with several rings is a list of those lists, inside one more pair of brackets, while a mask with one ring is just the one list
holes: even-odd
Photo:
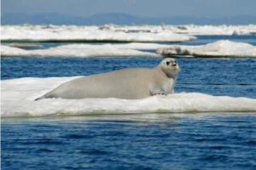
[[62, 82], [77, 77], [20, 78], [2, 83], [1, 116], [60, 116], [159, 112], [256, 111], [256, 99], [199, 93], [169, 94], [146, 99], [42, 99]]

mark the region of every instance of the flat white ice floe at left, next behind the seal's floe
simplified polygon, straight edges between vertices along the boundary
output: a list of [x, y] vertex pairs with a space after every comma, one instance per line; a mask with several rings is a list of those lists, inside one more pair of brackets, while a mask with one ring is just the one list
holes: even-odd
[[3, 57], [125, 57], [148, 56], [160, 57], [160, 54], [141, 50], [168, 47], [165, 44], [131, 42], [124, 44], [69, 44], [54, 48], [26, 50], [1, 46]]

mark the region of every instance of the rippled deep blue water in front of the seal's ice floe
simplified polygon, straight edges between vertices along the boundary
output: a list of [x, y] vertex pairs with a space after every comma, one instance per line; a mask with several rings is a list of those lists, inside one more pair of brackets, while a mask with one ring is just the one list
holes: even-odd
[[5, 120], [2, 168], [254, 170], [255, 120], [246, 114]]

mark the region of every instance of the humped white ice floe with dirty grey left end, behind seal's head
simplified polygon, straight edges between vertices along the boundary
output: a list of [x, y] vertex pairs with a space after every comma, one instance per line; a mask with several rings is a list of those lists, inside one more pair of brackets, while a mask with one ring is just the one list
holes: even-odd
[[195, 57], [256, 57], [256, 47], [245, 42], [220, 40], [206, 45], [173, 45], [168, 48], [158, 48], [156, 53], [164, 56], [191, 55]]

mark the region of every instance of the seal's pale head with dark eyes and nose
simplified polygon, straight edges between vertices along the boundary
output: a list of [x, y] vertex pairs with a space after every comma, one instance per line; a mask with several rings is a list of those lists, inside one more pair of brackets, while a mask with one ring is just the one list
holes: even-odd
[[166, 73], [167, 77], [176, 78], [178, 71], [180, 71], [177, 61], [172, 58], [163, 59], [158, 66], [161, 71]]

